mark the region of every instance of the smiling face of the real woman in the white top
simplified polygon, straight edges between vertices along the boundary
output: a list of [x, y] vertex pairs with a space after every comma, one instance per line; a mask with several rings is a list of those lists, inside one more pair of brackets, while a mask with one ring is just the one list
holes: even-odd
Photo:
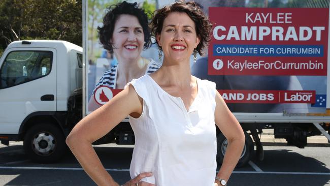
[[193, 49], [200, 43], [195, 23], [186, 13], [170, 13], [163, 22], [157, 41], [164, 53], [164, 61], [188, 61]]

